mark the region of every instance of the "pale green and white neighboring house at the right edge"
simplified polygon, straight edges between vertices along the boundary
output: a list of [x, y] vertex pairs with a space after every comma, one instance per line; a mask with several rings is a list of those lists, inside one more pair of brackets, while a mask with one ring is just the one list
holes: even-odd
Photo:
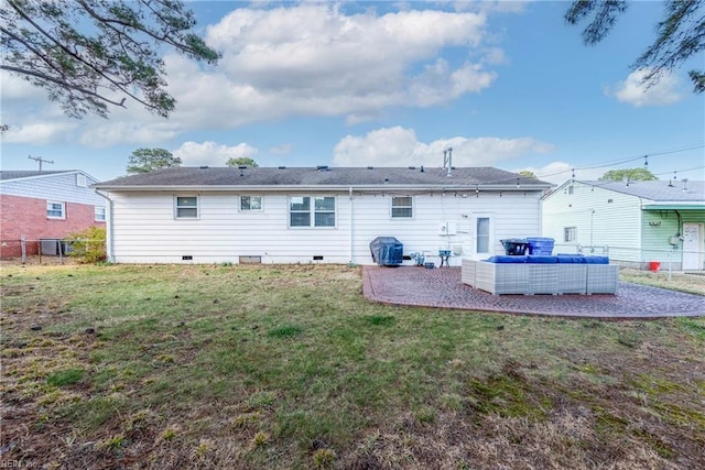
[[633, 267], [704, 269], [702, 181], [568, 181], [544, 197], [542, 219], [556, 251], [606, 250]]

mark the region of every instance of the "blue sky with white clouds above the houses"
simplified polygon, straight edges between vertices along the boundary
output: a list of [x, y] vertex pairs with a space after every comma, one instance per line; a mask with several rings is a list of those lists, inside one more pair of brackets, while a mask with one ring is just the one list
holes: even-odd
[[594, 47], [563, 20], [567, 2], [189, 6], [223, 59], [165, 56], [170, 119], [129, 101], [108, 120], [70, 119], [3, 74], [2, 170], [35, 170], [31, 155], [105, 181], [139, 147], [184, 165], [441, 166], [452, 146], [455, 166], [556, 184], [646, 162], [661, 179], [705, 179], [705, 97], [686, 76], [703, 57], [647, 90], [629, 68], [661, 2], [631, 3]]

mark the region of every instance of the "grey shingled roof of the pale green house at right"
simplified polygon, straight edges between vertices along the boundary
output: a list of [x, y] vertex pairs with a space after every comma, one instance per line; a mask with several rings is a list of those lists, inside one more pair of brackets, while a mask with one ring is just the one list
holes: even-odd
[[[655, 181], [655, 182], [579, 182], [595, 187], [629, 194], [658, 203], [705, 203], [705, 182]], [[685, 187], [685, 190], [683, 188]]]

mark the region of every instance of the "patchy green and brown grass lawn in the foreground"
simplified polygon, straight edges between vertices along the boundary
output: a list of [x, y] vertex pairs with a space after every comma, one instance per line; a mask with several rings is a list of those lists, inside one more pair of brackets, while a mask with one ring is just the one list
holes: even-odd
[[367, 302], [346, 266], [3, 266], [2, 462], [704, 468], [705, 318]]

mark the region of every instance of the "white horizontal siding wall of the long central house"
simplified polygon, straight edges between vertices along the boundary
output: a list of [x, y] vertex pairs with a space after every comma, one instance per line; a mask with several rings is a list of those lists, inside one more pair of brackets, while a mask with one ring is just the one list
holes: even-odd
[[[203, 193], [198, 196], [198, 219], [184, 223], [174, 219], [173, 196], [169, 194], [110, 193], [115, 261], [237, 263], [239, 256], [261, 256], [262, 263], [372, 264], [369, 244], [383, 236], [398, 238], [404, 244], [404, 254], [437, 253], [447, 245], [470, 250], [475, 243], [473, 220], [478, 215], [491, 217], [489, 254], [503, 253], [500, 239], [540, 234], [538, 193], [505, 192], [502, 197], [482, 193], [477, 198], [463, 194], [415, 195], [413, 223], [409, 219], [390, 219], [392, 196], [388, 194], [355, 192], [352, 199], [348, 192], [321, 196], [271, 192], [262, 196], [262, 211], [243, 211], [238, 194]], [[318, 219], [328, 221], [333, 216], [335, 227], [292, 230], [291, 201], [303, 204], [304, 197], [334, 198], [334, 212], [328, 205], [319, 204]], [[310, 223], [316, 218], [314, 203], [308, 200]], [[297, 207], [303, 210], [303, 206]], [[442, 232], [445, 221], [456, 228], [453, 234]], [[430, 261], [438, 263], [437, 259]], [[459, 263], [460, 256], [451, 258], [451, 265]]]

